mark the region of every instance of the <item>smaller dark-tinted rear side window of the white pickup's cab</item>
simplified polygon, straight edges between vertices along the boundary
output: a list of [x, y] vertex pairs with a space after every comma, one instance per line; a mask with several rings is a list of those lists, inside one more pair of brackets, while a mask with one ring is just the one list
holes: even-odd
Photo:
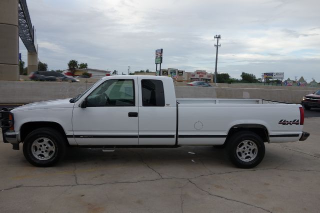
[[161, 80], [141, 80], [142, 106], [164, 106], [164, 91]]

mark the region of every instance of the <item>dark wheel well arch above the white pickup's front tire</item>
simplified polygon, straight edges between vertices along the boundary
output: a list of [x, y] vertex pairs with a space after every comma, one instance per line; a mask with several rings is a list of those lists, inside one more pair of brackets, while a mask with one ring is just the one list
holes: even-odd
[[42, 122], [41, 121], [41, 122], [28, 122], [28, 123], [22, 124], [22, 126], [20, 128], [21, 141], [23, 142], [25, 137], [30, 132], [32, 132], [33, 130], [36, 130], [38, 128], [42, 128], [42, 127], [50, 127], [50, 128], [57, 130], [58, 132], [60, 132], [62, 134], [62, 136], [65, 138], [65, 140], [67, 140], [65, 132], [60, 124], [55, 123], [55, 122]]

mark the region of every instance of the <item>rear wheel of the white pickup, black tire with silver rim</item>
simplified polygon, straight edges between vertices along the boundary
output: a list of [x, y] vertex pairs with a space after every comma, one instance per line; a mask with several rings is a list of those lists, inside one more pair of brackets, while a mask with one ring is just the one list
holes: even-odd
[[232, 164], [243, 169], [257, 166], [262, 161], [265, 152], [261, 137], [250, 131], [240, 131], [232, 135], [227, 141], [226, 148]]

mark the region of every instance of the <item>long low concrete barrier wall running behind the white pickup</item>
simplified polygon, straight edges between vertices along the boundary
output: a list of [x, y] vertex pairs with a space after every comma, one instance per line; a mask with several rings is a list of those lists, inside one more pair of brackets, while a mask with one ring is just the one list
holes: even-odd
[[[0, 104], [25, 104], [36, 101], [72, 98], [92, 83], [38, 81], [0, 81]], [[175, 87], [177, 98], [259, 98], [300, 103], [303, 95], [314, 90]]]

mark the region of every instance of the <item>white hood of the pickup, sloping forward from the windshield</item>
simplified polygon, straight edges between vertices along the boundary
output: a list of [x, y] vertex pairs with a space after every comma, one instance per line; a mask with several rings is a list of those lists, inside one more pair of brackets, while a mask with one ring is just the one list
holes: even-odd
[[50, 101], [41, 101], [19, 106], [11, 110], [11, 112], [17, 112], [22, 110], [34, 110], [34, 109], [52, 109], [52, 108], [72, 108], [74, 103], [69, 102], [70, 98], [58, 99]]

